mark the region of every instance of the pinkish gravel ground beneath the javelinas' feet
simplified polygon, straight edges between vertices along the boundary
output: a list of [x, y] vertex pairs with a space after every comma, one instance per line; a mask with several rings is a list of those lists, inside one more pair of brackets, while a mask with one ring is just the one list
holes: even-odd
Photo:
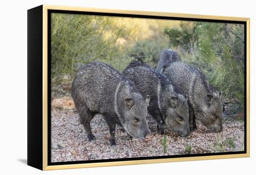
[[243, 120], [225, 119], [220, 133], [211, 133], [197, 122], [198, 130], [190, 138], [179, 137], [174, 132], [165, 130], [167, 148], [164, 154], [164, 135], [156, 133], [156, 124], [151, 117], [148, 117], [148, 125], [153, 137], [149, 141], [131, 139], [118, 126], [115, 132], [117, 145], [112, 147], [108, 140], [108, 126], [101, 115], [96, 115], [91, 121], [92, 132], [96, 137], [92, 142], [88, 140], [75, 110], [52, 107], [51, 119], [51, 162], [200, 154], [241, 151], [244, 148]]

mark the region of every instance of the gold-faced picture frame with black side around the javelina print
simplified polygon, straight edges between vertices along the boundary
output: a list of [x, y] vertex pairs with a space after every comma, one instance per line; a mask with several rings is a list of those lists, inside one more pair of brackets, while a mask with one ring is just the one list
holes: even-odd
[[[48, 12], [49, 10], [60, 10], [60, 11], [75, 11], [75, 12], [101, 12], [101, 13], [115, 13], [115, 14], [127, 14], [127, 15], [148, 15], [148, 16], [162, 16], [162, 17], [172, 17], [172, 18], [186, 18], [186, 19], [212, 19], [212, 20], [224, 20], [224, 21], [243, 21], [246, 23], [246, 153], [243, 154], [227, 154], [227, 155], [212, 155], [212, 156], [188, 156], [188, 157], [175, 157], [175, 158], [157, 158], [157, 159], [147, 159], [147, 160], [128, 160], [128, 161], [115, 161], [115, 162], [93, 162], [93, 163], [77, 163], [77, 164], [62, 164], [62, 165], [49, 165], [48, 164], [48, 141], [49, 141], [49, 133], [48, 133]], [[36, 15], [40, 17], [36, 19]], [[38, 45], [33, 45], [32, 42], [33, 37], [38, 37], [37, 34], [32, 35], [32, 28], [37, 23], [41, 23], [41, 32], [42, 36], [39, 36], [39, 43], [42, 42], [41, 48]], [[32, 28], [30, 28], [32, 27]], [[30, 87], [28, 91], [28, 111], [31, 110], [32, 107], [35, 109], [40, 108], [40, 111], [32, 111], [28, 112], [28, 165], [33, 166], [42, 170], [53, 170], [53, 169], [74, 169], [74, 168], [88, 168], [88, 167], [102, 167], [102, 166], [117, 166], [117, 165], [132, 165], [132, 164], [145, 164], [145, 163], [162, 163], [162, 162], [180, 162], [180, 161], [195, 161], [195, 160], [209, 160], [209, 159], [225, 159], [225, 158], [238, 158], [238, 157], [249, 157], [250, 155], [250, 135], [249, 135], [249, 94], [250, 94], [250, 63], [249, 63], [249, 45], [250, 45], [250, 19], [249, 18], [238, 18], [238, 17], [224, 17], [224, 16], [209, 16], [209, 15], [197, 15], [197, 14], [182, 14], [182, 13], [169, 13], [169, 12], [146, 12], [146, 11], [128, 11], [128, 10], [112, 10], [112, 9], [101, 9], [101, 8], [87, 8], [87, 7], [74, 7], [74, 6], [51, 6], [51, 5], [42, 5], [39, 7], [35, 7], [34, 9], [28, 10], [28, 87], [30, 87], [30, 82], [34, 81], [32, 69], [35, 64], [41, 66], [41, 84], [38, 86], [42, 86], [42, 92], [40, 94], [41, 103], [35, 104], [33, 102], [33, 94], [37, 92], [38, 89], [33, 89]], [[31, 40], [30, 40], [31, 39]], [[35, 50], [34, 47], [38, 47], [37, 50], [40, 50], [40, 53], [32, 53], [32, 50]], [[35, 55], [33, 55], [35, 54]], [[38, 55], [36, 55], [38, 54]], [[42, 56], [42, 59], [35, 58], [34, 56]], [[33, 57], [34, 58], [33, 58]], [[37, 59], [38, 61], [33, 61], [33, 59]], [[36, 62], [36, 63], [35, 63]], [[31, 69], [30, 69], [31, 66]], [[34, 99], [35, 100], [35, 99]], [[37, 105], [37, 106], [35, 106]], [[42, 112], [42, 113], [40, 113]], [[37, 118], [39, 119], [33, 119]], [[37, 128], [34, 128], [37, 127]], [[36, 131], [38, 130], [38, 131]], [[39, 131], [41, 130], [41, 132]], [[34, 140], [35, 134], [38, 134], [39, 140]], [[31, 137], [31, 138], [30, 138]], [[34, 143], [37, 142], [37, 143]], [[40, 144], [41, 147], [38, 150], [33, 150], [34, 144]], [[38, 162], [34, 162], [36, 157], [39, 157]]]

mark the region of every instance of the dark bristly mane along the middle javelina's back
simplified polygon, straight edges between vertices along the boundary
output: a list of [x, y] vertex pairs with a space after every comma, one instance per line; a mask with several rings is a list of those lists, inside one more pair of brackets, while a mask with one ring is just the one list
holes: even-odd
[[127, 69], [131, 69], [131, 68], [135, 68], [135, 67], [139, 67], [139, 66], [143, 66], [143, 67], [146, 67], [148, 69], [150, 69], [152, 72], [155, 73], [155, 75], [157, 75], [158, 78], [160, 78], [161, 80], [163, 81], [166, 81], [168, 82], [169, 84], [171, 84], [174, 88], [174, 92], [176, 94], [182, 94], [181, 91], [179, 90], [179, 88], [177, 88], [174, 83], [172, 83], [172, 81], [164, 74], [160, 73], [159, 71], [157, 71], [156, 69], [152, 68], [151, 66], [148, 66], [147, 64], [145, 63], [141, 63], [137, 60], [133, 60], [131, 63], [129, 63], [128, 67], [124, 70], [126, 71]]

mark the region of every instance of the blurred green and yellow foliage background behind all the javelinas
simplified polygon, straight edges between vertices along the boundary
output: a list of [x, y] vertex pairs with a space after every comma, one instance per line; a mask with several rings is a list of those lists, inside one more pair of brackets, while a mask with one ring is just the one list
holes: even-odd
[[120, 72], [136, 59], [156, 67], [161, 52], [202, 70], [209, 83], [244, 102], [244, 25], [52, 13], [53, 96], [69, 94], [76, 71], [94, 61]]

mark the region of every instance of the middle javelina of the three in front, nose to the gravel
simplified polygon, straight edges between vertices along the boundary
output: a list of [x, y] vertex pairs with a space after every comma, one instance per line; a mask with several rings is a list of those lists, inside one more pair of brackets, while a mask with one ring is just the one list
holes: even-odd
[[135, 83], [142, 96], [150, 95], [148, 113], [156, 120], [161, 134], [164, 125], [182, 137], [190, 134], [187, 98], [165, 75], [137, 61], [131, 62], [123, 74]]

